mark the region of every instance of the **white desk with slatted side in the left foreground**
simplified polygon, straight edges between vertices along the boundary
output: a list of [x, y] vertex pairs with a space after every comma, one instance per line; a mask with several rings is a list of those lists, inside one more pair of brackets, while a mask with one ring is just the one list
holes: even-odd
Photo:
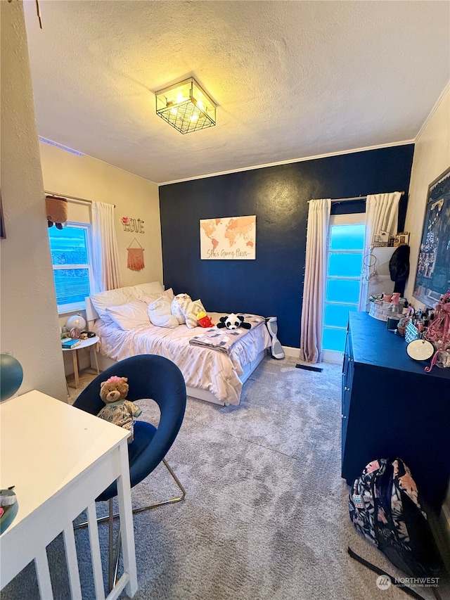
[[42, 600], [53, 600], [46, 546], [63, 532], [73, 599], [81, 599], [72, 521], [87, 509], [96, 598], [105, 599], [94, 500], [117, 479], [124, 574], [108, 595], [137, 590], [128, 432], [36, 390], [0, 404], [0, 487], [18, 513], [0, 536], [0, 589], [34, 559]]

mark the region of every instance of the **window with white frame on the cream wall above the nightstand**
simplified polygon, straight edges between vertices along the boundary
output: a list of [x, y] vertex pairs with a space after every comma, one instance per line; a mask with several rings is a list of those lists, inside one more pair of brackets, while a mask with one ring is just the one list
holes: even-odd
[[91, 226], [50, 227], [49, 237], [58, 312], [83, 309], [92, 283]]

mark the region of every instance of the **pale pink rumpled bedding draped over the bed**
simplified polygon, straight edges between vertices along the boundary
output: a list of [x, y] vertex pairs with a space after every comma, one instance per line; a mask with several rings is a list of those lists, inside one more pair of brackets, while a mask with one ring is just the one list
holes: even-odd
[[[224, 314], [208, 313], [214, 323]], [[169, 329], [149, 324], [131, 331], [123, 331], [114, 324], [98, 319], [94, 331], [101, 340], [101, 354], [120, 361], [140, 354], [156, 354], [172, 360], [179, 366], [186, 385], [211, 392], [219, 402], [239, 404], [243, 366], [254, 361], [271, 343], [264, 323], [252, 328], [240, 338], [230, 352], [189, 344], [193, 336], [205, 331], [201, 327], [188, 329], [186, 325]]]

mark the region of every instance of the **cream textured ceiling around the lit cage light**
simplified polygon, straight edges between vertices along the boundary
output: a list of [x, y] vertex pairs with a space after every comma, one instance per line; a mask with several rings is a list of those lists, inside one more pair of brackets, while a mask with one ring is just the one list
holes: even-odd
[[[448, 1], [24, 5], [39, 135], [158, 183], [414, 139], [450, 79]], [[190, 75], [182, 135], [154, 92]]]

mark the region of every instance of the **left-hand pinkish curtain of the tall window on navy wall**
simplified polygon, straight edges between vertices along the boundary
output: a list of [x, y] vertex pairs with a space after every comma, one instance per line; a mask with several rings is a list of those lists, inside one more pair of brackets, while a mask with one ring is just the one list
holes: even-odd
[[300, 360], [322, 359], [323, 307], [325, 303], [327, 236], [331, 200], [310, 200], [307, 253], [304, 267]]

